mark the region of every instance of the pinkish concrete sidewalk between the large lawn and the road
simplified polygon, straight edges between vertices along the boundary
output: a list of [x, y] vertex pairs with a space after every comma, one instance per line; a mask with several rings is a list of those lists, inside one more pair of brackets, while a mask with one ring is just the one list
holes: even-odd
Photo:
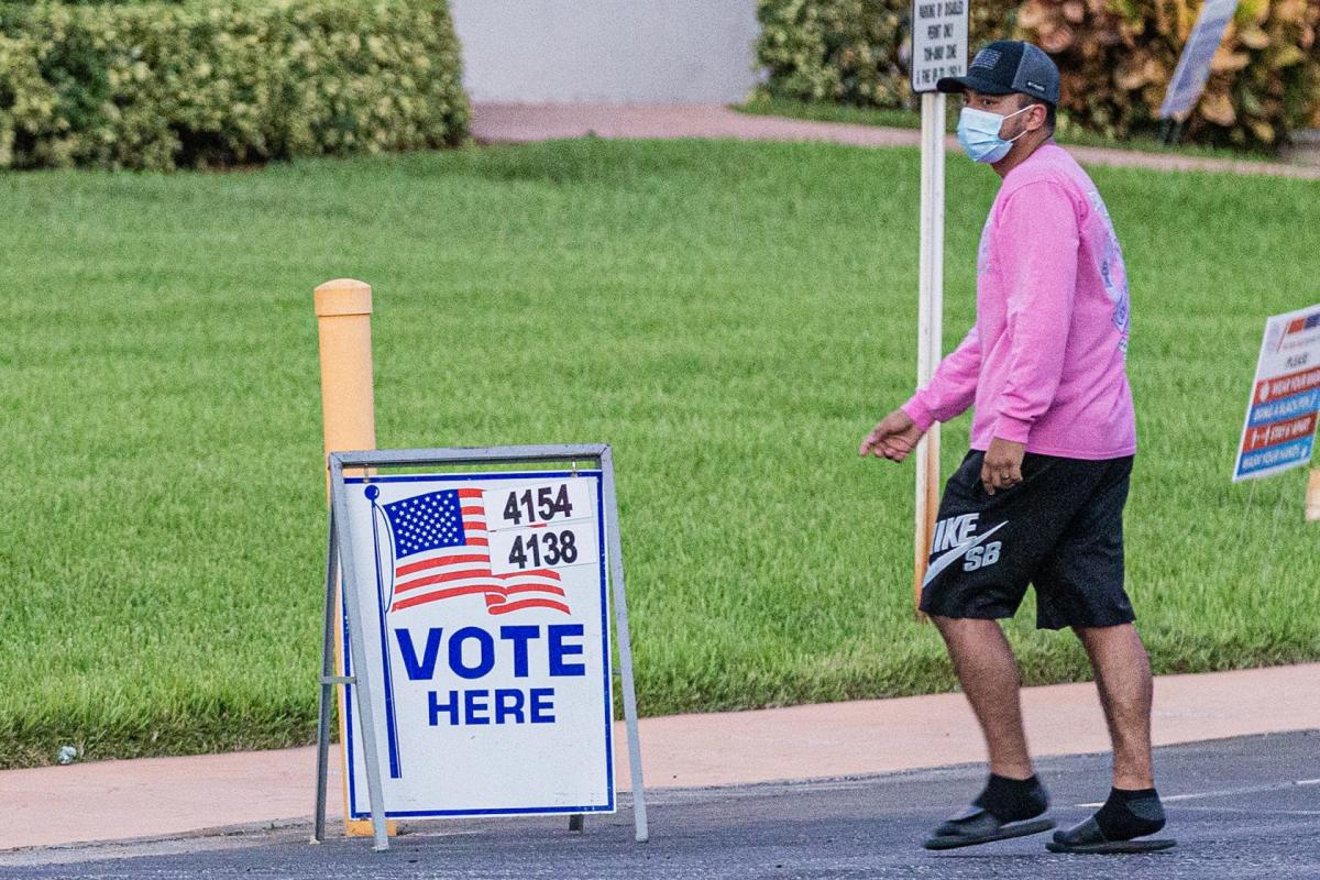
[[[1109, 748], [1094, 687], [1023, 691], [1036, 755]], [[1155, 682], [1156, 745], [1320, 728], [1320, 664]], [[624, 736], [615, 767], [630, 786]], [[961, 694], [677, 715], [642, 722], [648, 789], [863, 776], [985, 760]], [[331, 810], [342, 815], [338, 759]], [[102, 761], [0, 773], [0, 850], [306, 819], [315, 751]]]

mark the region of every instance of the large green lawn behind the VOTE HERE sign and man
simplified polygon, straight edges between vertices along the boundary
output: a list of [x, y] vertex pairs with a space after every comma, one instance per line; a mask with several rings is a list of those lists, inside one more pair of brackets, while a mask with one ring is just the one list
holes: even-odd
[[[949, 690], [912, 621], [919, 160], [594, 139], [3, 178], [0, 761], [308, 743], [325, 537], [312, 288], [375, 286], [383, 447], [610, 442], [644, 714]], [[1129, 583], [1158, 672], [1320, 658], [1304, 474], [1230, 486], [1320, 183], [1096, 169], [1134, 285]], [[946, 344], [998, 178], [949, 162]], [[945, 433], [961, 456], [966, 417]], [[1028, 683], [1068, 633], [1011, 624]]]

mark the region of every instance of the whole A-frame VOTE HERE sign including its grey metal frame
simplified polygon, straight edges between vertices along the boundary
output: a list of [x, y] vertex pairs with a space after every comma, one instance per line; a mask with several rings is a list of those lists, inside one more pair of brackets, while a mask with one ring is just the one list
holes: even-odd
[[[350, 815], [370, 815], [375, 848], [385, 850], [387, 817], [566, 814], [581, 830], [585, 813], [612, 813], [618, 676], [636, 839], [647, 840], [610, 447], [391, 450], [329, 460], [314, 839], [325, 830], [335, 685], [348, 691]], [[546, 467], [554, 463], [561, 470]], [[345, 476], [346, 468], [367, 470]], [[345, 620], [334, 616], [337, 577]], [[350, 648], [341, 676], [337, 627]]]

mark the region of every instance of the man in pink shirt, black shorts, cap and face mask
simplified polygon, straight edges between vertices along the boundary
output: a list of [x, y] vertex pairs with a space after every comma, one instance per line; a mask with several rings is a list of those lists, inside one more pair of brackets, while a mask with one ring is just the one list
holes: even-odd
[[1052, 140], [1059, 70], [993, 42], [966, 77], [958, 141], [1003, 178], [977, 255], [977, 319], [933, 379], [886, 416], [861, 454], [902, 462], [936, 421], [975, 404], [972, 450], [940, 504], [921, 610], [949, 649], [990, 753], [985, 790], [939, 826], [942, 850], [1055, 826], [1027, 752], [1011, 617], [1028, 582], [1036, 625], [1072, 627], [1096, 673], [1114, 745], [1105, 805], [1047, 847], [1150, 851], [1164, 826], [1151, 767], [1151, 674], [1123, 590], [1123, 504], [1137, 450], [1127, 384], [1127, 277], [1094, 183]]

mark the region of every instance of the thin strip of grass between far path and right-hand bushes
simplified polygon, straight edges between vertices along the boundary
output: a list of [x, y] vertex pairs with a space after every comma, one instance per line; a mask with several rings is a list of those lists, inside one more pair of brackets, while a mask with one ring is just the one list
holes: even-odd
[[[948, 133], [958, 129], [960, 99], [954, 95], [945, 102], [944, 128]], [[787, 98], [758, 98], [738, 104], [734, 110], [754, 116], [788, 116], [817, 123], [851, 123], [854, 125], [880, 125], [884, 128], [921, 128], [921, 113], [911, 110], [882, 110], [879, 107], [853, 107], [849, 104], [810, 103]], [[1196, 156], [1204, 158], [1226, 158], [1253, 162], [1276, 162], [1278, 156], [1259, 150], [1233, 150], [1199, 144], [1177, 144], [1171, 146], [1156, 137], [1134, 136], [1115, 140], [1096, 135], [1077, 127], [1068, 127], [1060, 117], [1055, 140], [1073, 146], [1106, 146], [1110, 149], [1139, 150], [1142, 153], [1163, 153], [1166, 156]]]

